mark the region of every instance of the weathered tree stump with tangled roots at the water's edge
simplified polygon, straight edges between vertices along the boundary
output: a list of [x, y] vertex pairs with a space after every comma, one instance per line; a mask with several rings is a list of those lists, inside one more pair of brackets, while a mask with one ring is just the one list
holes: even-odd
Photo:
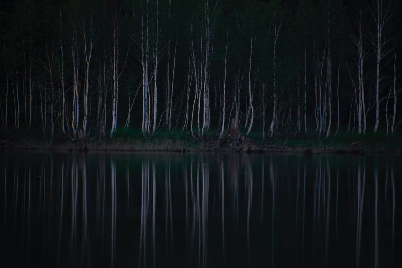
[[230, 129], [225, 137], [218, 140], [217, 148], [229, 149], [240, 152], [263, 152], [263, 145], [258, 144], [252, 139], [248, 139], [239, 131], [239, 124], [236, 119], [230, 122]]

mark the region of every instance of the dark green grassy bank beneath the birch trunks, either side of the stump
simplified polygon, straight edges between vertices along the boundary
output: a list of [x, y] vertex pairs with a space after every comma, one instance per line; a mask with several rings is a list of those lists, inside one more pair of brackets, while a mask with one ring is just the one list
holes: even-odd
[[[7, 140], [7, 148], [25, 149], [60, 149], [76, 150], [77, 141], [72, 141], [61, 131], [57, 131], [50, 141], [50, 132], [35, 129], [2, 129], [1, 140]], [[317, 137], [315, 133], [299, 133], [295, 136], [288, 133], [276, 133], [272, 139], [262, 141], [260, 132], [251, 132], [248, 138], [276, 148], [277, 151], [303, 151], [311, 148], [314, 152], [326, 152], [345, 148], [351, 143], [359, 142], [366, 152], [400, 154], [402, 151], [402, 135], [384, 132], [368, 132], [365, 135], [339, 132], [337, 135]], [[216, 149], [219, 134], [216, 130], [204, 133], [202, 139], [193, 137], [190, 131], [161, 129], [152, 137], [145, 138], [141, 129], [118, 128], [113, 139], [100, 142], [95, 130], [86, 137], [86, 145], [90, 150], [123, 150], [123, 151], [213, 151]]]

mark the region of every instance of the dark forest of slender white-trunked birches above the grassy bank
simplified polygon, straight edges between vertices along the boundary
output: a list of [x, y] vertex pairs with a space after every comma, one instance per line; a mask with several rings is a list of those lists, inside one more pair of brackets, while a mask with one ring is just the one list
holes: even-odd
[[[262, 140], [393, 133], [396, 1], [125, 0], [1, 4], [6, 128]], [[285, 133], [285, 134], [283, 134]], [[310, 134], [309, 134], [310, 133]]]

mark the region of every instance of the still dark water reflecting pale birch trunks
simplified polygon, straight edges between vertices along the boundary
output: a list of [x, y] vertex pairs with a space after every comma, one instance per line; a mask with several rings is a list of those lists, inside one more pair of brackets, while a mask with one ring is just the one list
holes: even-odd
[[401, 267], [402, 159], [0, 152], [1, 267]]

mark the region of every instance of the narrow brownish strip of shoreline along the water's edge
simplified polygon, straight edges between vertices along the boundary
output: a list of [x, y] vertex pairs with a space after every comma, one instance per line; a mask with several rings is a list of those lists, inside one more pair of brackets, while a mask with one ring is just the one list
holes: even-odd
[[[93, 152], [166, 152], [166, 153], [297, 153], [303, 155], [312, 154], [336, 154], [336, 155], [365, 155], [365, 154], [380, 154], [389, 156], [400, 156], [400, 151], [396, 148], [388, 148], [383, 151], [372, 151], [363, 149], [358, 142], [352, 143], [347, 147], [319, 147], [319, 146], [297, 146], [291, 147], [287, 145], [263, 145], [263, 150], [260, 151], [236, 151], [230, 148], [218, 148], [216, 142], [212, 141], [197, 141], [196, 143], [186, 144], [184, 141], [163, 140], [158, 143], [156, 141], [133, 141], [133, 142], [114, 142], [108, 141], [103, 144], [87, 141], [86, 146], [88, 151]], [[78, 141], [66, 141], [54, 143], [52, 145], [41, 141], [20, 141], [18, 143], [3, 143], [0, 144], [1, 151], [14, 150], [38, 150], [38, 151], [61, 151], [61, 152], [82, 152]]]

